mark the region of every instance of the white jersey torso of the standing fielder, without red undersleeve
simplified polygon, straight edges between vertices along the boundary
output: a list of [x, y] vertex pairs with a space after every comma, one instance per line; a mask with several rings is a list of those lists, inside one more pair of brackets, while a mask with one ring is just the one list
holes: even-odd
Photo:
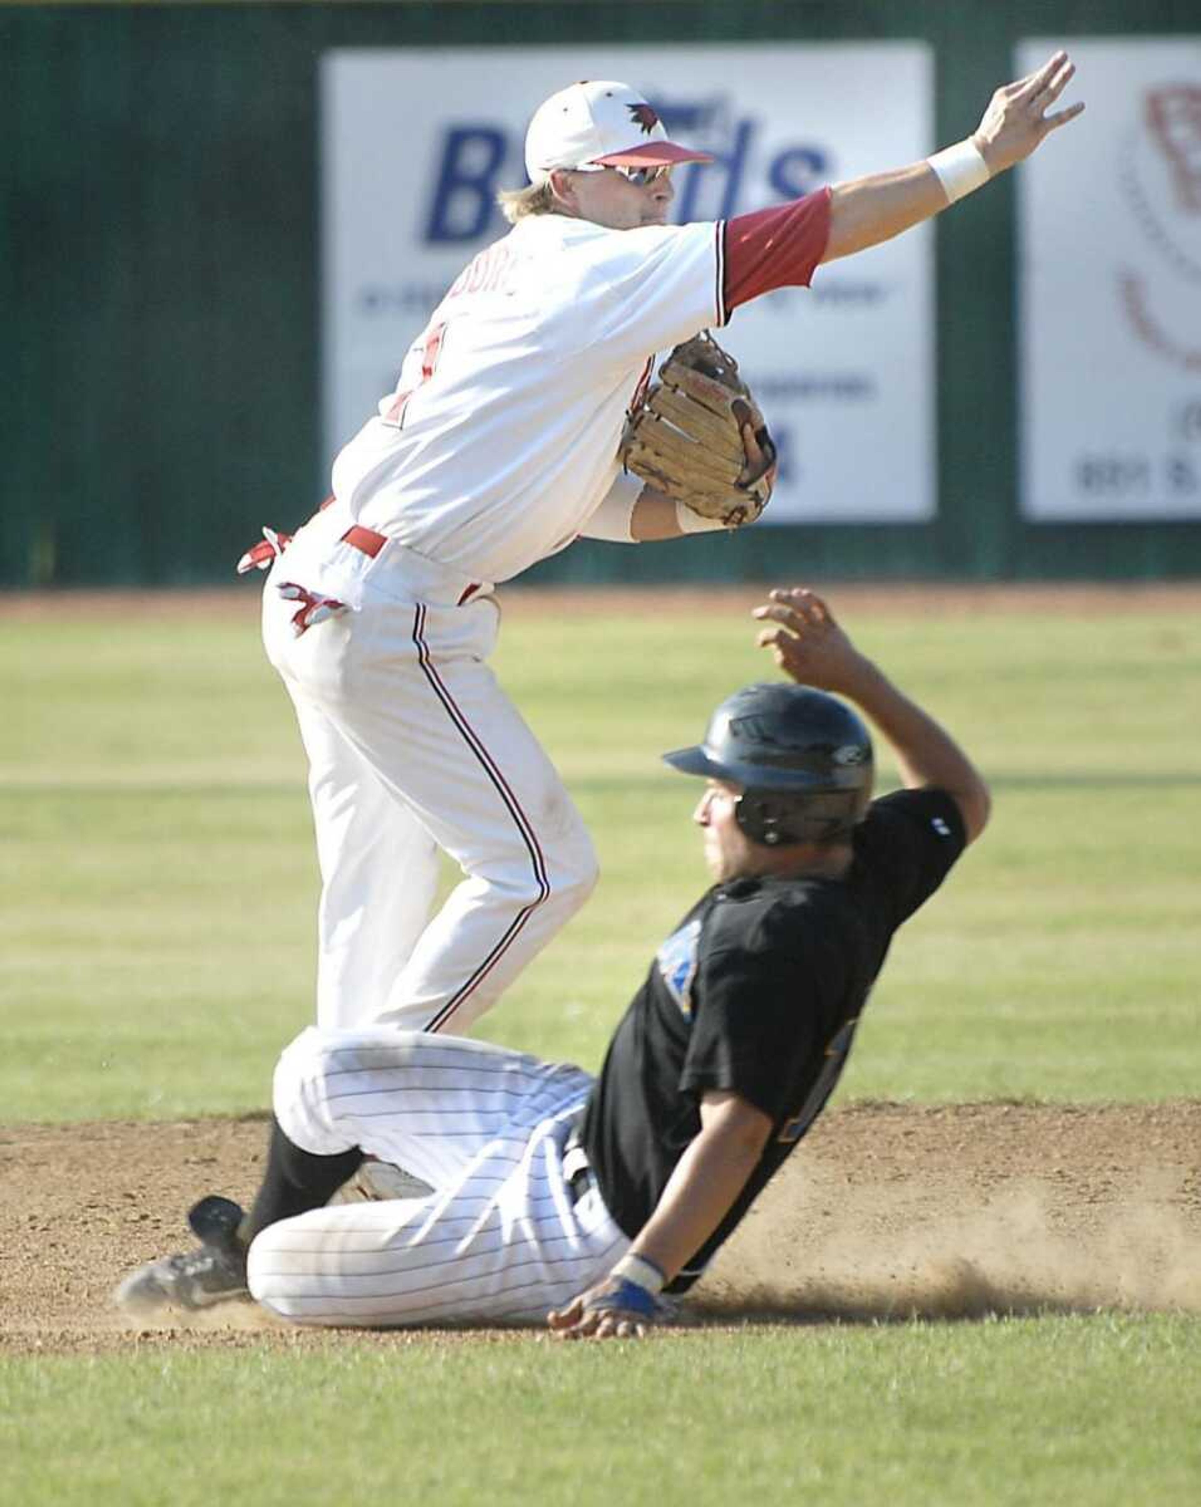
[[521, 220], [437, 306], [338, 457], [335, 496], [475, 580], [564, 549], [618, 475], [648, 357], [725, 319], [720, 231]]

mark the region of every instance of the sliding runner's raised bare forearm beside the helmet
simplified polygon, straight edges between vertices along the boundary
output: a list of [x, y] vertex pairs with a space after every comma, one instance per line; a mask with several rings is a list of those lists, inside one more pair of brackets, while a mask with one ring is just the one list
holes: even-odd
[[979, 836], [989, 820], [989, 788], [951, 734], [863, 656], [841, 689], [892, 744], [904, 785], [945, 790], [960, 808], [967, 841]]

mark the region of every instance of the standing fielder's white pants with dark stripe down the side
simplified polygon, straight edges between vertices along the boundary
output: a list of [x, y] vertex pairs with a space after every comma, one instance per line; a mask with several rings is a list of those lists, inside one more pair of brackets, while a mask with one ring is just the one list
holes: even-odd
[[[336, 508], [276, 561], [264, 643], [309, 755], [321, 867], [316, 1019], [466, 1031], [583, 904], [592, 842], [487, 666], [499, 607], [396, 544], [368, 559]], [[315, 538], [316, 535], [316, 538]], [[356, 610], [292, 631], [298, 582]], [[429, 921], [437, 848], [464, 879]]]

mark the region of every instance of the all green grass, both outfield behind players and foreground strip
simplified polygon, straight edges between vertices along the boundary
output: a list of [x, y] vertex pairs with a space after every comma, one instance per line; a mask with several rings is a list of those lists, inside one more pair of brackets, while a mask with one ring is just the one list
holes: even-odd
[[[996, 805], [898, 940], [839, 1099], [1195, 1099], [1201, 622], [987, 601], [847, 621]], [[312, 1014], [316, 876], [253, 615], [0, 616], [0, 1121], [265, 1106]], [[726, 607], [518, 600], [497, 671], [603, 880], [481, 1034], [591, 1067], [705, 883], [696, 787], [657, 755], [772, 668]], [[1186, 1502], [1199, 1344], [1195, 1317], [1096, 1316], [9, 1356], [0, 1498]]]

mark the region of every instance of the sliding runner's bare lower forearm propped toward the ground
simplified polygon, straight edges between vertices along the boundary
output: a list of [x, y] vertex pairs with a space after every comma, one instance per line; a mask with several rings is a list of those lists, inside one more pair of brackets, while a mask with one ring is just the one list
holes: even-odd
[[666, 1281], [677, 1276], [734, 1207], [761, 1151], [761, 1136], [702, 1130], [680, 1157], [633, 1254], [654, 1261]]

